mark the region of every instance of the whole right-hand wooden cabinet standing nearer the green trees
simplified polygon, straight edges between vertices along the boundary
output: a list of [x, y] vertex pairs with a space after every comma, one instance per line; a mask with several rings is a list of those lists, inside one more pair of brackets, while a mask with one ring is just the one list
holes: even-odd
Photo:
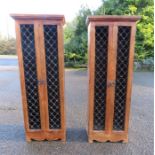
[[88, 138], [128, 141], [136, 21], [139, 16], [90, 16]]

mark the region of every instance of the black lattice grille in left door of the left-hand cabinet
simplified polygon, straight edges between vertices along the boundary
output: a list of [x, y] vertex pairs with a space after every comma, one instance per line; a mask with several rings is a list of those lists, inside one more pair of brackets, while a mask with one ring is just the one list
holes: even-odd
[[36, 71], [34, 26], [20, 25], [24, 62], [25, 86], [28, 104], [29, 128], [40, 129], [39, 95]]

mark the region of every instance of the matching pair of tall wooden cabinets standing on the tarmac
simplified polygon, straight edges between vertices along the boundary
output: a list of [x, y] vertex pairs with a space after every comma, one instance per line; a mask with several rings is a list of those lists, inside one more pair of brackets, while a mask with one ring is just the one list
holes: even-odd
[[[11, 15], [16, 21], [26, 139], [66, 139], [64, 16]], [[139, 17], [88, 17], [88, 139], [127, 141], [134, 38]]]

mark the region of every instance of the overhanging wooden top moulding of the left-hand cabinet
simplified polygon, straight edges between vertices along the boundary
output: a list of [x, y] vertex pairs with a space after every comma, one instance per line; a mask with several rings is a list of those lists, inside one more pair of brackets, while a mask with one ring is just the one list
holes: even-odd
[[55, 20], [65, 23], [64, 15], [49, 15], [49, 14], [10, 14], [15, 20]]

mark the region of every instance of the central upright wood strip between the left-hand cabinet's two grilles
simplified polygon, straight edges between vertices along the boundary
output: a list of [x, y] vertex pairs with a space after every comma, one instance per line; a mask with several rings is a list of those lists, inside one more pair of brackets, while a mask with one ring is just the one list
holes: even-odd
[[44, 84], [40, 84], [39, 88], [40, 88], [40, 104], [41, 104], [41, 114], [42, 114], [42, 118], [44, 118], [42, 120], [43, 122], [43, 130], [46, 132], [48, 131], [48, 127], [49, 127], [49, 118], [48, 118], [48, 92], [47, 92], [47, 77], [46, 77], [46, 58], [45, 58], [45, 46], [44, 46], [44, 31], [43, 31], [43, 24], [42, 24], [42, 20], [38, 20], [38, 29], [36, 28], [36, 30], [38, 31], [38, 36], [36, 36], [36, 40], [37, 38], [38, 40], [38, 56], [39, 57], [39, 61], [37, 64], [38, 70], [40, 71], [40, 78], [39, 80], [42, 80], [44, 82]]

